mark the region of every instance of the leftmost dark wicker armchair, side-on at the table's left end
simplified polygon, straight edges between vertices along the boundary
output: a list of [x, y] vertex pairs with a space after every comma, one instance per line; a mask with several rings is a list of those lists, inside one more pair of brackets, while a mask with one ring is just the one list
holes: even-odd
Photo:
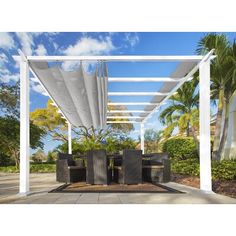
[[63, 183], [85, 181], [86, 168], [82, 160], [75, 161], [72, 154], [58, 154], [56, 180]]

